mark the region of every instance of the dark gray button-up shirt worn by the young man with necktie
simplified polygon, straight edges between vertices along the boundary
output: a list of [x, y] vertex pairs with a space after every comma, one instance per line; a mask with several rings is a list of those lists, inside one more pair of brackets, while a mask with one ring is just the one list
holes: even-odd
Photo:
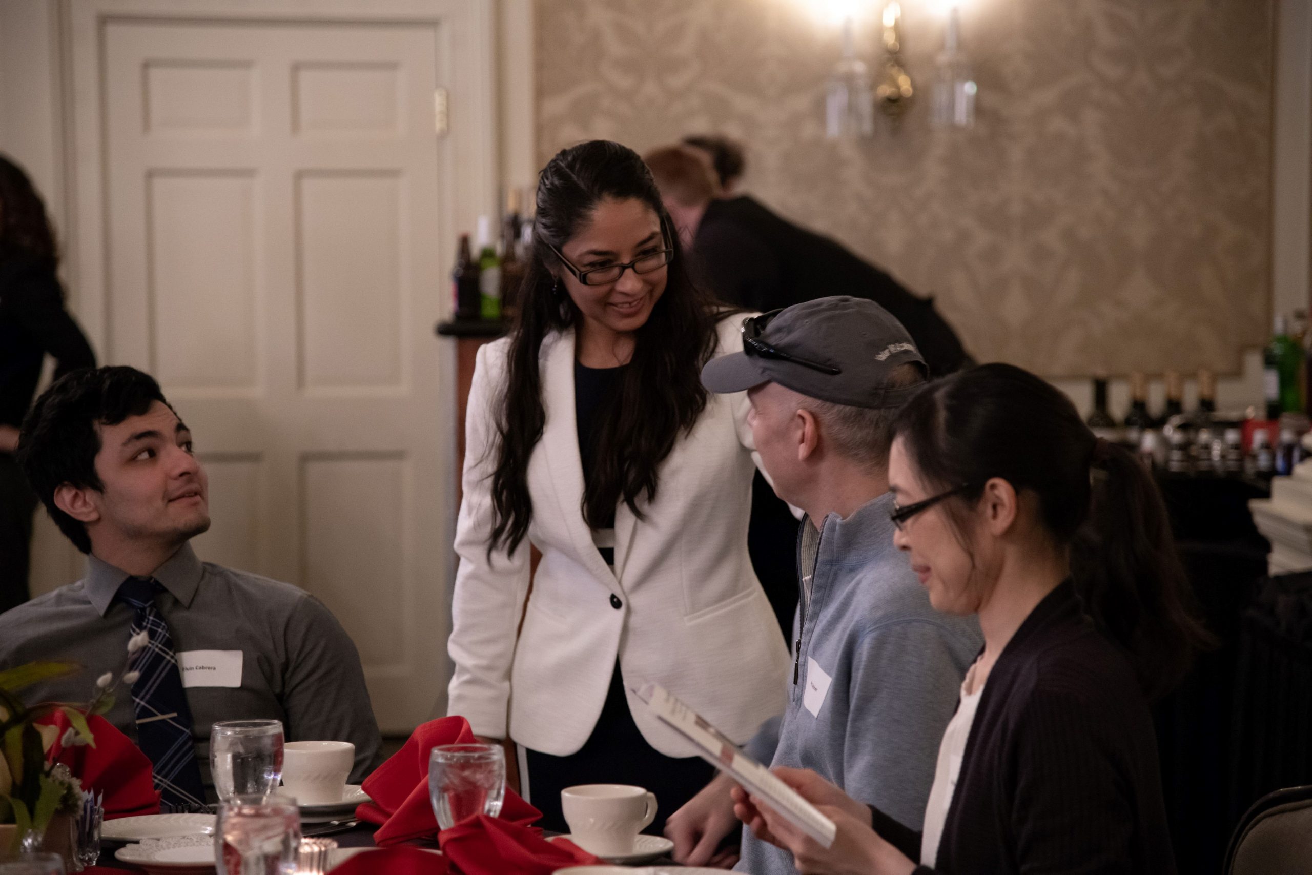
[[[350, 741], [354, 783], [378, 765], [382, 740], [359, 653], [319, 600], [291, 584], [202, 563], [190, 544], [152, 576], [165, 589], [155, 603], [176, 652], [241, 651], [241, 686], [186, 689], [206, 783], [210, 725], [218, 720], [274, 719], [282, 720], [287, 741]], [[135, 611], [114, 596], [127, 577], [89, 556], [83, 580], [0, 614], [0, 669], [33, 660], [84, 666], [77, 674], [26, 687], [25, 701], [87, 702], [98, 676], [122, 672]], [[105, 716], [136, 740], [126, 685], [119, 685]]]

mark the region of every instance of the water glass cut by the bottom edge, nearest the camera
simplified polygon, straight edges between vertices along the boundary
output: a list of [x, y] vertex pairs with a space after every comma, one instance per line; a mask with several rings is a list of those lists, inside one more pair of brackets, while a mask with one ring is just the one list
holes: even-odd
[[299, 849], [295, 799], [239, 794], [219, 804], [214, 824], [218, 875], [295, 875]]

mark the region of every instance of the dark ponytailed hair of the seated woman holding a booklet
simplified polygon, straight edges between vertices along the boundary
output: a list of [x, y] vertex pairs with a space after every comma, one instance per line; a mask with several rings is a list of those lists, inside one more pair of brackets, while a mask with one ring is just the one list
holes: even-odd
[[1065, 395], [1019, 367], [983, 365], [917, 395], [895, 436], [926, 487], [970, 484], [958, 502], [977, 501], [991, 478], [1036, 495], [1044, 527], [1069, 548], [1085, 610], [1130, 653], [1144, 691], [1179, 680], [1208, 636], [1161, 493], [1134, 455], [1094, 438]]

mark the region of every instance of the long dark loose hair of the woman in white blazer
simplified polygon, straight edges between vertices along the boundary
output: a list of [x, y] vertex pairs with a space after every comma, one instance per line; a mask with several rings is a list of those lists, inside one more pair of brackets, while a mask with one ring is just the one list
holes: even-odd
[[592, 140], [563, 150], [538, 180], [533, 257], [510, 332], [497, 421], [489, 550], [513, 552], [529, 531], [529, 458], [546, 424], [538, 353], [548, 332], [575, 328], [581, 319], [552, 273], [552, 268], [560, 268], [550, 245], [563, 248], [605, 199], [638, 199], [651, 207], [666, 245], [674, 249], [674, 260], [666, 269], [664, 294], [636, 332], [619, 390], [597, 412], [601, 426], [596, 467], [589, 471], [583, 496], [588, 525], [597, 527], [621, 501], [642, 517], [639, 499], [655, 499], [661, 463], [706, 407], [701, 370], [715, 352], [716, 311], [687, 275], [678, 234], [651, 172], [636, 152], [618, 143]]

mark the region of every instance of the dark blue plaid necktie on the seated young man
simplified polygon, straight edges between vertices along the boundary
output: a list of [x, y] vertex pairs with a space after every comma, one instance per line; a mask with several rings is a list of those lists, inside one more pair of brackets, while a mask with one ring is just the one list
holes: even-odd
[[136, 739], [155, 766], [155, 788], [169, 805], [205, 804], [201, 769], [192, 741], [192, 710], [182, 693], [182, 674], [173, 655], [173, 636], [155, 606], [160, 586], [151, 577], [129, 577], [118, 597], [136, 610], [133, 635], [146, 630], [150, 643], [133, 653], [129, 670], [140, 672], [133, 683]]

